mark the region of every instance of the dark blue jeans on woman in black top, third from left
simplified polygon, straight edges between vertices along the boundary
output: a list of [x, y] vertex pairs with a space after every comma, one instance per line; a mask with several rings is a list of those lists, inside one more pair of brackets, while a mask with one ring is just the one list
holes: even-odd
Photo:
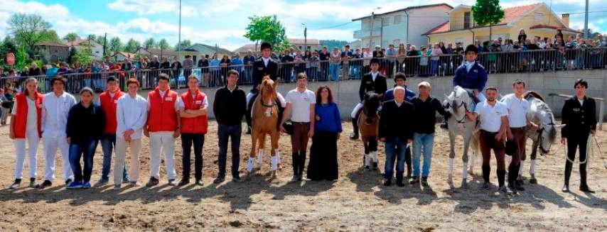
[[[74, 172], [75, 182], [90, 182], [92, 172], [92, 158], [99, 140], [87, 139], [80, 143], [70, 144], [70, 167]], [[85, 168], [80, 166], [80, 158], [84, 156]]]

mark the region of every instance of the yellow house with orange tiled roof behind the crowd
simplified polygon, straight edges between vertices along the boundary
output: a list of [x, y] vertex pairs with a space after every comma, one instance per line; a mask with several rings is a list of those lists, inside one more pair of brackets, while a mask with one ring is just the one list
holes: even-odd
[[517, 40], [520, 29], [525, 30], [529, 39], [535, 36], [552, 38], [554, 43], [557, 28], [562, 29], [565, 38], [582, 33], [569, 28], [569, 14], [559, 17], [544, 3], [506, 8], [502, 21], [491, 27], [474, 23], [472, 6], [456, 6], [448, 12], [448, 15], [448, 21], [439, 23], [423, 34], [427, 36], [428, 43], [444, 41], [445, 43], [462, 42], [468, 45], [473, 43], [473, 40], [479, 40], [480, 43], [495, 38]]

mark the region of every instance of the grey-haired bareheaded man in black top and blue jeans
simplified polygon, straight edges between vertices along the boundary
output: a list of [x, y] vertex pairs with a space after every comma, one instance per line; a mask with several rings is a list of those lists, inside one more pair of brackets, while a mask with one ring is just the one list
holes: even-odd
[[414, 123], [414, 106], [404, 101], [404, 88], [394, 87], [394, 101], [386, 101], [382, 105], [380, 114], [380, 141], [385, 142], [386, 165], [384, 185], [392, 184], [392, 174], [394, 173], [394, 159], [396, 155], [396, 182], [399, 187], [403, 187], [402, 182], [404, 172], [404, 150], [407, 149], [407, 143], [412, 143]]

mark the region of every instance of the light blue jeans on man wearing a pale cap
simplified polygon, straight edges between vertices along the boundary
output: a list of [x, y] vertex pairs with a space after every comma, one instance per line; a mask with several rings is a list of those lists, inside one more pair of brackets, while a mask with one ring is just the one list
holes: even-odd
[[432, 145], [434, 133], [413, 133], [413, 176], [419, 177], [419, 156], [424, 152], [424, 166], [421, 167], [421, 177], [428, 177], [432, 162]]

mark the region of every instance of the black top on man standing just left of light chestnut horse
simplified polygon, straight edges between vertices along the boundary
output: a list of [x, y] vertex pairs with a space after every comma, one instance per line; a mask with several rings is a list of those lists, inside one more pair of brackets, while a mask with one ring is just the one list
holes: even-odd
[[236, 87], [232, 92], [227, 87], [217, 89], [213, 101], [213, 114], [217, 123], [239, 125], [246, 111], [247, 95], [242, 89]]

